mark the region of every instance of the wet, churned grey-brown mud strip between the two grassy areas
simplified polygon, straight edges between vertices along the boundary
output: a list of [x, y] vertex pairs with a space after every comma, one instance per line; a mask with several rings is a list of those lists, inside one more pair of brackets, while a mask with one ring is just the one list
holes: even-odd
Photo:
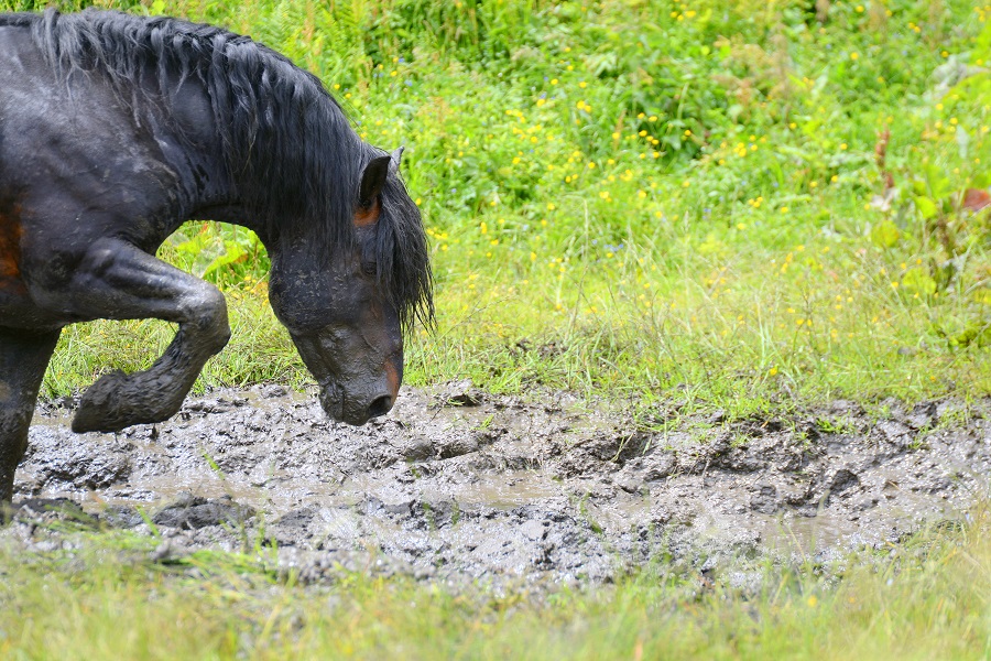
[[[987, 498], [991, 399], [788, 419], [629, 414], [567, 393], [404, 388], [364, 427], [280, 386], [187, 400], [160, 425], [69, 431], [42, 403], [0, 535], [57, 543], [39, 513], [67, 498], [156, 553], [263, 550], [305, 581], [340, 567], [445, 582], [577, 584], [662, 561], [707, 571], [897, 542]], [[142, 517], [144, 513], [144, 518]], [[154, 527], [146, 522], [151, 519]]]

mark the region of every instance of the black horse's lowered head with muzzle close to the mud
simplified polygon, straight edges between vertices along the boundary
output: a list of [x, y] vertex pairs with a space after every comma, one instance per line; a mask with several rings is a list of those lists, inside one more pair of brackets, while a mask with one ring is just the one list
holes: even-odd
[[320, 387], [327, 414], [364, 424], [392, 409], [403, 378], [403, 330], [429, 322], [431, 272], [416, 205], [399, 178], [402, 150], [364, 169], [353, 243], [334, 259], [296, 237], [272, 261], [269, 299]]

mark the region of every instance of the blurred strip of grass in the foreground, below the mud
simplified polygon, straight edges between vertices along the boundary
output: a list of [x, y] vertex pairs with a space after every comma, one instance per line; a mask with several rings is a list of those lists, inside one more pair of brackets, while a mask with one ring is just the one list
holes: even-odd
[[[952, 532], [834, 566], [758, 567], [760, 587], [662, 560], [614, 586], [453, 594], [340, 572], [275, 578], [260, 555], [148, 557], [156, 540], [0, 549], [0, 654], [12, 659], [982, 659], [991, 653], [987, 511]], [[842, 565], [846, 564], [846, 568]], [[15, 567], [15, 568], [14, 568]]]

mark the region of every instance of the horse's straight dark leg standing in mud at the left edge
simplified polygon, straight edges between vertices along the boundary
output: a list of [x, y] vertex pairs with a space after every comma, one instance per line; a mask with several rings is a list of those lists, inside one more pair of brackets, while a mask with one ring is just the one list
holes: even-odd
[[0, 507], [13, 496], [14, 472], [28, 449], [37, 389], [56, 342], [58, 330], [0, 328]]

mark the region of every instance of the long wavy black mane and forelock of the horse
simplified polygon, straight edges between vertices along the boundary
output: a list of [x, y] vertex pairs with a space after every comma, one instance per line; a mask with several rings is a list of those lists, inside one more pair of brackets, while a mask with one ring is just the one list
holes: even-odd
[[[197, 80], [209, 96], [231, 181], [246, 212], [273, 236], [296, 225], [327, 257], [355, 245], [352, 217], [364, 166], [384, 152], [361, 141], [320, 80], [251, 39], [170, 18], [86, 10], [0, 14], [0, 25], [30, 28], [64, 76], [101, 72], [137, 108], [171, 102], [170, 80]], [[157, 76], [148, 89], [148, 73]], [[143, 85], [143, 87], [142, 87]], [[140, 119], [139, 119], [140, 121]], [[400, 177], [382, 192], [379, 279], [404, 327], [433, 316], [431, 270], [420, 212]], [[300, 232], [290, 232], [300, 236]]]

